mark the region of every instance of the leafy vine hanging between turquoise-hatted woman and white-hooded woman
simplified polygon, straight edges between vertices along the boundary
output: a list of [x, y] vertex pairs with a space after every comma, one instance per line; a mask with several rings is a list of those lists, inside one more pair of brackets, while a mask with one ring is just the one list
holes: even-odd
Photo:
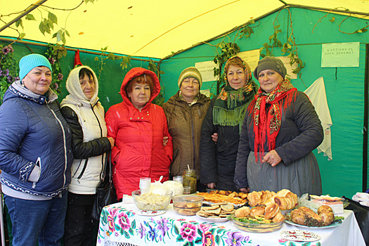
[[46, 58], [53, 69], [53, 80], [50, 88], [58, 95], [61, 92], [61, 82], [63, 82], [63, 72], [60, 67], [59, 59], [67, 56], [67, 48], [60, 44], [48, 44], [46, 50]]

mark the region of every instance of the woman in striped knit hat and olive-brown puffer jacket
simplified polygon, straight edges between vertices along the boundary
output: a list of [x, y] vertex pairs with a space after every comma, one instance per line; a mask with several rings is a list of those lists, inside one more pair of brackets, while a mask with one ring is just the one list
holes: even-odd
[[[195, 67], [187, 67], [179, 75], [179, 91], [162, 105], [173, 138], [171, 177], [182, 175], [189, 166], [200, 179], [201, 125], [210, 103], [210, 98], [200, 93], [201, 85], [200, 72]], [[198, 190], [204, 189], [198, 181]]]

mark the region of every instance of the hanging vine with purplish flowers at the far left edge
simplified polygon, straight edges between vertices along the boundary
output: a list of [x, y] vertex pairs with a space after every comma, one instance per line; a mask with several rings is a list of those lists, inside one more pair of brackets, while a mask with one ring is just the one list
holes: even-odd
[[13, 46], [0, 44], [0, 101], [3, 103], [4, 93], [11, 83], [19, 80], [18, 62], [13, 58]]

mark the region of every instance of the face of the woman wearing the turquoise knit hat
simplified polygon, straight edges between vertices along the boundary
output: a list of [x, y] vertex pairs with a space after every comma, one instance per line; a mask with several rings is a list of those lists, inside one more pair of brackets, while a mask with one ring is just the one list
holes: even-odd
[[23, 84], [30, 91], [39, 95], [44, 95], [51, 84], [52, 73], [48, 67], [34, 67], [27, 75], [22, 79]]

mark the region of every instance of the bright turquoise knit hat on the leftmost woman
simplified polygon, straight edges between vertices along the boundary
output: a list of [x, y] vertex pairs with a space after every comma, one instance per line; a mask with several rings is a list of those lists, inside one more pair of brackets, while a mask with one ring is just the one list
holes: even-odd
[[22, 80], [34, 67], [44, 66], [48, 67], [51, 72], [51, 64], [46, 57], [40, 54], [30, 54], [23, 56], [19, 61], [19, 78]]

